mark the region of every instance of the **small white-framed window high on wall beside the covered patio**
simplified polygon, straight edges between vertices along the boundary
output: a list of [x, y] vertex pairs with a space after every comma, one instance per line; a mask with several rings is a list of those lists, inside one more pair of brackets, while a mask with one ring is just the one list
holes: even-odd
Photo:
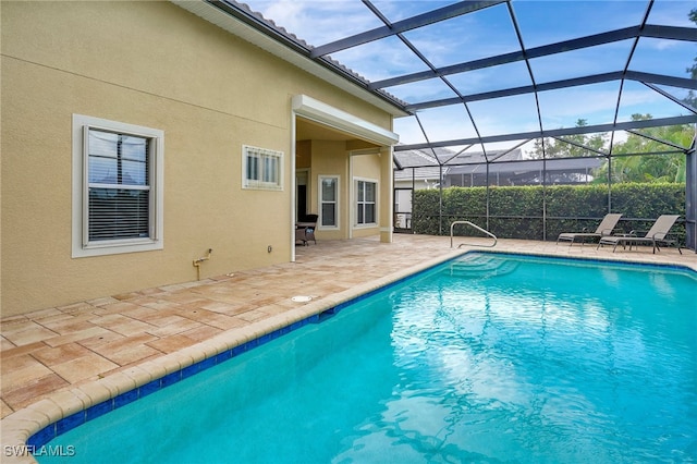
[[243, 145], [242, 188], [282, 191], [283, 151]]

